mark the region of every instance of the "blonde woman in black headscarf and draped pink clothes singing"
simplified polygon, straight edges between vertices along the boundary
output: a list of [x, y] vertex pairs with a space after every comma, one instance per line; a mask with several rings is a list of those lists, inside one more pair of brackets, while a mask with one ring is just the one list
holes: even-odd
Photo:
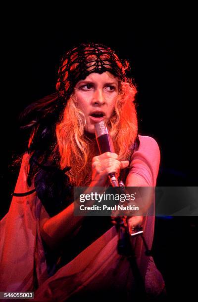
[[[160, 153], [138, 135], [136, 86], [129, 64], [102, 44], [80, 44], [63, 55], [56, 92], [22, 113], [30, 129], [9, 212], [1, 221], [1, 291], [34, 291], [34, 301], [133, 301], [137, 272], [117, 252], [109, 217], [74, 217], [73, 188], [109, 186], [111, 173], [128, 187], [154, 187]], [[105, 120], [114, 152], [100, 154], [95, 124]], [[153, 216], [142, 225], [149, 249]], [[146, 296], [161, 297], [164, 281], [142, 239], [134, 241]]]

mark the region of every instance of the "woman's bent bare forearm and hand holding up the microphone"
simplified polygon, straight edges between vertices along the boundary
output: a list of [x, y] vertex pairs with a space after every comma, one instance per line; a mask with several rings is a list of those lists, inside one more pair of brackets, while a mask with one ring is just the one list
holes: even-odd
[[[129, 164], [128, 160], [119, 161], [115, 153], [105, 152], [93, 158], [92, 164], [92, 182], [85, 194], [95, 191], [94, 187], [105, 186], [109, 173], [119, 173]], [[98, 192], [98, 189], [97, 189]], [[90, 200], [88, 206], [93, 205], [94, 201]], [[75, 235], [77, 229], [81, 226], [84, 216], [74, 216], [74, 203], [70, 204], [59, 214], [50, 218], [45, 208], [42, 207], [40, 215], [40, 231], [43, 240], [50, 248], [56, 248], [61, 245], [63, 240], [69, 240]]]

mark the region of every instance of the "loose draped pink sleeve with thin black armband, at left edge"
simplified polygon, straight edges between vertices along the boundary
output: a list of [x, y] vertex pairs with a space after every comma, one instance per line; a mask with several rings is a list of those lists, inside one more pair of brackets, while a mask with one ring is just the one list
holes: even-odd
[[[15, 193], [34, 189], [27, 185], [29, 155], [23, 155]], [[8, 213], [0, 221], [0, 290], [33, 291], [48, 277], [39, 228], [41, 202], [36, 192], [13, 196]]]

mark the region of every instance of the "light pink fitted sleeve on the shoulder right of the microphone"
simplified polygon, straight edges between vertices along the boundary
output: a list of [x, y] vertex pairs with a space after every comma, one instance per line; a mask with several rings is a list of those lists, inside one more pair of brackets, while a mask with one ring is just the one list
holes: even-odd
[[130, 174], [137, 174], [145, 179], [148, 186], [156, 185], [159, 170], [160, 151], [157, 142], [149, 136], [141, 136], [140, 147], [132, 155]]

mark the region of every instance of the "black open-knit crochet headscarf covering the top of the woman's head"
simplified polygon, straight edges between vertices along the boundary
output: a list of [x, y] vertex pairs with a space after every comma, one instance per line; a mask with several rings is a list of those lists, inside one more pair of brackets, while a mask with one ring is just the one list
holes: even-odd
[[61, 59], [56, 84], [59, 99], [68, 100], [79, 80], [92, 73], [109, 72], [126, 81], [128, 64], [121, 61], [115, 52], [103, 44], [83, 43], [69, 50]]

